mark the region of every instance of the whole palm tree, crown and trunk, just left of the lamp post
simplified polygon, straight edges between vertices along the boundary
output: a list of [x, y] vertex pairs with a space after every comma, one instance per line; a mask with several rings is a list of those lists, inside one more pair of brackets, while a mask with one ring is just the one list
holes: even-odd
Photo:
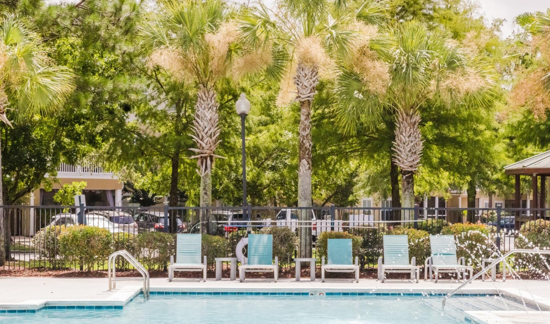
[[[195, 86], [197, 101], [193, 138], [197, 173], [201, 177], [200, 206], [212, 206], [212, 167], [220, 128], [216, 85], [238, 80], [271, 64], [269, 46], [241, 41], [238, 12], [219, 0], [163, 0], [152, 22], [142, 28], [152, 65], [162, 67], [182, 86]], [[208, 212], [201, 213], [205, 221]], [[206, 229], [206, 224], [201, 227]]]

